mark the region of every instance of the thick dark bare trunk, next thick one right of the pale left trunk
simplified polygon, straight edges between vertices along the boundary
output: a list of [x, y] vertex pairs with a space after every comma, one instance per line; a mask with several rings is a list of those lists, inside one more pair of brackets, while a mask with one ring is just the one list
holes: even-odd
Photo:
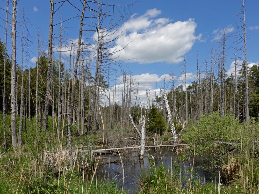
[[54, 0], [50, 0], [49, 37], [48, 37], [48, 70], [47, 70], [46, 96], [45, 96], [44, 117], [43, 117], [43, 127], [46, 130], [48, 128], [49, 101], [51, 98], [50, 89], [51, 89], [53, 15], [54, 15]]

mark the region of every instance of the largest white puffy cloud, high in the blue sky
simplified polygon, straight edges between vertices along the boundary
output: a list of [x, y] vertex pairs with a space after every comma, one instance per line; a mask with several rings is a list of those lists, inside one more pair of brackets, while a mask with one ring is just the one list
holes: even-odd
[[125, 32], [116, 40], [118, 59], [132, 59], [133, 62], [178, 63], [193, 46], [201, 34], [196, 36], [194, 19], [171, 23], [169, 18], [155, 18], [161, 10], [150, 9], [136, 17], [134, 14], [118, 30]]

